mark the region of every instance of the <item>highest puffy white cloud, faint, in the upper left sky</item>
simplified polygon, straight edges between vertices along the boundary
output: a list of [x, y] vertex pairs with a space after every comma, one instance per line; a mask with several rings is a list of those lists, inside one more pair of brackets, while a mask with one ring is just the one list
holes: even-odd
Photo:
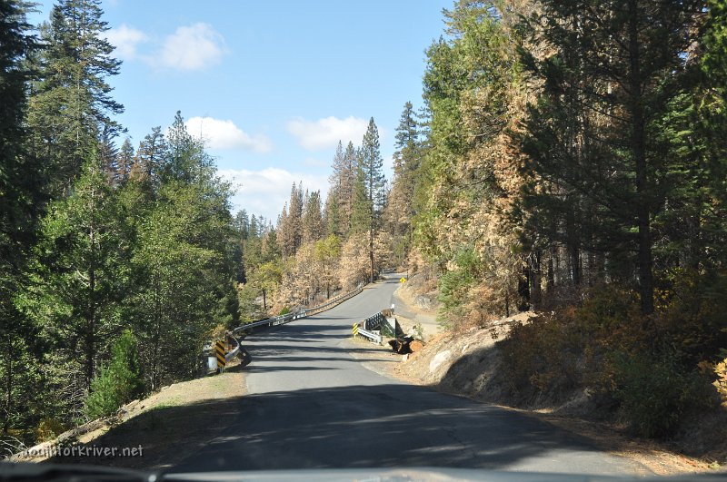
[[161, 51], [149, 61], [179, 71], [202, 70], [220, 62], [223, 45], [223, 36], [212, 25], [181, 26], [166, 36]]

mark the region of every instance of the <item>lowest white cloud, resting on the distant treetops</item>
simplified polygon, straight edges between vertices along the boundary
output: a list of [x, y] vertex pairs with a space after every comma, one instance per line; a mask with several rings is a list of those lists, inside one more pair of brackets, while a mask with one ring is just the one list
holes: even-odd
[[304, 189], [320, 191], [325, 198], [328, 176], [302, 172], [289, 172], [268, 167], [262, 171], [224, 169], [218, 172], [237, 188], [233, 196], [235, 209], [245, 209], [250, 214], [262, 214], [270, 221], [277, 221], [284, 203], [290, 199], [294, 182], [303, 182]]

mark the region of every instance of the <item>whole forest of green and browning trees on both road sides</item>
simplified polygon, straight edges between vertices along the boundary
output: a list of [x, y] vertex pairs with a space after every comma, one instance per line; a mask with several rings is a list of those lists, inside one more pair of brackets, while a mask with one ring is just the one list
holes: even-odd
[[[727, 6], [457, 0], [403, 103], [242, 210], [181, 113], [134, 146], [99, 0], [0, 0], [0, 444], [199, 375], [215, 331], [399, 269], [456, 332], [518, 311], [513, 403], [587, 388], [639, 433], [727, 407]], [[423, 46], [424, 47], [424, 46]]]

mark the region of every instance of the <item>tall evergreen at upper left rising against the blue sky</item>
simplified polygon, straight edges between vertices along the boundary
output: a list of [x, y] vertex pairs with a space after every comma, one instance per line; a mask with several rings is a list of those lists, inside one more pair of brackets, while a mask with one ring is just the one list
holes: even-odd
[[111, 116], [124, 107], [110, 95], [106, 78], [118, 74], [120, 61], [105, 38], [100, 0], [60, 0], [44, 25], [40, 81], [33, 87], [28, 123], [32, 147], [53, 174], [54, 192], [67, 190], [96, 152], [106, 130], [113, 139], [121, 126]]

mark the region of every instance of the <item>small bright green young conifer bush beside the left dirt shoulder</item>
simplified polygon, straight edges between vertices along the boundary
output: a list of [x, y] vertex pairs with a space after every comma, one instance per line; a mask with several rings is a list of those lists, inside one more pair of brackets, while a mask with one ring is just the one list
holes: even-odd
[[91, 394], [85, 400], [86, 417], [108, 417], [142, 393], [136, 339], [130, 330], [124, 330], [112, 349], [111, 363], [91, 382]]

